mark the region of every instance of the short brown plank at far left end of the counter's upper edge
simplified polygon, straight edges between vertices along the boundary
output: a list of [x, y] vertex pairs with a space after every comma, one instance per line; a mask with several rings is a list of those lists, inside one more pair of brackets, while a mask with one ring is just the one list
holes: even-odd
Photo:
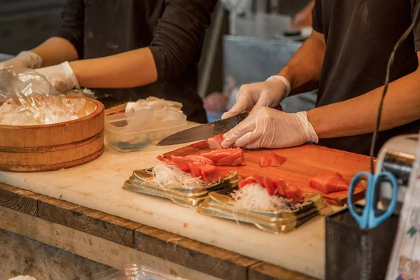
[[0, 183], [0, 205], [38, 216], [38, 202], [43, 195]]

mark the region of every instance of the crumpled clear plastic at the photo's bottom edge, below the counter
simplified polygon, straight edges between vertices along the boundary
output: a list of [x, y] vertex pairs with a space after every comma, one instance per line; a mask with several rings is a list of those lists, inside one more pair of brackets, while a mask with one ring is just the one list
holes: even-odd
[[139, 265], [127, 265], [124, 270], [109, 269], [105, 272], [95, 274], [92, 280], [186, 280], [172, 276], [148, 267]]

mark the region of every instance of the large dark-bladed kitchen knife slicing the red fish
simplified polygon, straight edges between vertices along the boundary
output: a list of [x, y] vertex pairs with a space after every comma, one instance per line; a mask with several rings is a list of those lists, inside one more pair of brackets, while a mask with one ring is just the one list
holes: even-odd
[[188, 128], [176, 134], [162, 139], [156, 146], [168, 146], [175, 144], [183, 144], [193, 141], [199, 141], [214, 137], [232, 130], [233, 127], [241, 123], [242, 120], [248, 116], [248, 113], [241, 113], [232, 118], [225, 118], [224, 120], [217, 120], [213, 123], [206, 123], [197, 127]]

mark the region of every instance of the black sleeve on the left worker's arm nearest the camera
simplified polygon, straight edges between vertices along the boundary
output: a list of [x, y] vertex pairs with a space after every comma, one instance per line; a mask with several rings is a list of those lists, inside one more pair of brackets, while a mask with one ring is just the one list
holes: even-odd
[[216, 0], [167, 0], [149, 48], [158, 80], [181, 76], [202, 47]]

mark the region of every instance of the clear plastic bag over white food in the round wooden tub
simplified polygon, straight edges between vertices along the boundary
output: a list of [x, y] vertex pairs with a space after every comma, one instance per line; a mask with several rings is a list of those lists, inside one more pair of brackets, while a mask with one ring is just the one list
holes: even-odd
[[67, 99], [39, 73], [10, 67], [0, 70], [0, 124], [48, 125], [86, 116], [86, 99]]

